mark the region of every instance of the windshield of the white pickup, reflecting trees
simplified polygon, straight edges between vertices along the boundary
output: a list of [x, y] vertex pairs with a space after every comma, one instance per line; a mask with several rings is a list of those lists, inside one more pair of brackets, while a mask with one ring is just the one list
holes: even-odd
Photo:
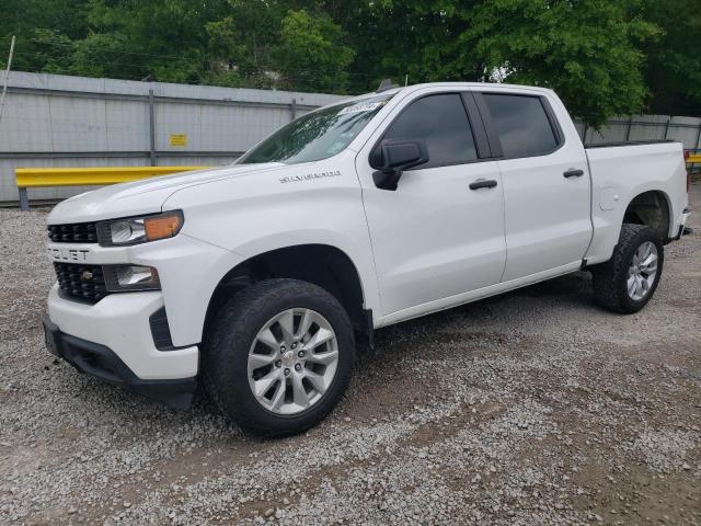
[[343, 151], [392, 95], [325, 107], [281, 127], [249, 150], [237, 164], [319, 161]]

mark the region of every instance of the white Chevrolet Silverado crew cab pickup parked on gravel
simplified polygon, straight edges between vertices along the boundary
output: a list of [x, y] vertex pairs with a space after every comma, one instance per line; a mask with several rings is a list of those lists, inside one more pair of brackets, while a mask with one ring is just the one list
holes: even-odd
[[635, 312], [689, 215], [681, 145], [585, 148], [550, 90], [433, 83], [317, 110], [231, 165], [48, 218], [49, 351], [177, 408], [297, 433], [380, 327], [575, 271]]

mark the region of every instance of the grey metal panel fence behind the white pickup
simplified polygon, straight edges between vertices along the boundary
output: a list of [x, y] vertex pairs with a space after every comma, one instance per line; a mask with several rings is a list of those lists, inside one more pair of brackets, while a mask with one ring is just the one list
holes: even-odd
[[[321, 93], [11, 72], [0, 121], [0, 203], [16, 203], [15, 168], [217, 165], [291, 118], [343, 99]], [[635, 115], [585, 144], [674, 139], [701, 151], [701, 118]], [[84, 187], [32, 188], [58, 199]]]

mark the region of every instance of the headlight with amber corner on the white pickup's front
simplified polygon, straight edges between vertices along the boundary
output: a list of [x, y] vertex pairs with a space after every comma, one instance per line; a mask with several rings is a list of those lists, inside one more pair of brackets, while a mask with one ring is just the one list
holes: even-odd
[[181, 210], [103, 221], [97, 224], [97, 240], [101, 247], [127, 247], [168, 239], [180, 232], [183, 221]]

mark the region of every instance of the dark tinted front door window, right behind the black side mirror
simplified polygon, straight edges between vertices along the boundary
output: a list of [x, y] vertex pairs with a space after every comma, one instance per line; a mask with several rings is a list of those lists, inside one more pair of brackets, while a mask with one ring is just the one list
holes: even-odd
[[430, 95], [413, 102], [394, 121], [386, 139], [425, 139], [429, 161], [421, 168], [474, 161], [476, 150], [460, 95]]

